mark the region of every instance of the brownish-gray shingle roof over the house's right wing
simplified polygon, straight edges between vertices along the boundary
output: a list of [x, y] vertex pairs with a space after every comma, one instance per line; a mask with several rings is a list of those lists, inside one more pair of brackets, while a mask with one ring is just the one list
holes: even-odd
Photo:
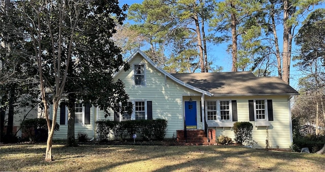
[[298, 94], [279, 77], [256, 77], [251, 72], [171, 73], [171, 75], [214, 95]]

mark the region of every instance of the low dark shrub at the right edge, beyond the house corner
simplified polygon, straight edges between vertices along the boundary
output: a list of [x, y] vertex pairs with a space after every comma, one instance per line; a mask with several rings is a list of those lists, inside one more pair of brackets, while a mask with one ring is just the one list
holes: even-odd
[[319, 151], [325, 144], [325, 136], [307, 135], [294, 138], [294, 151], [300, 152], [302, 148], [308, 148], [309, 151], [315, 153]]

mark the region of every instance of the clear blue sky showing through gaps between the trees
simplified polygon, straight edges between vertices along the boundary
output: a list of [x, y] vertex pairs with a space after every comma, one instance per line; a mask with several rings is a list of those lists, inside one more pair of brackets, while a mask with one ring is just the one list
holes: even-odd
[[[119, 0], [119, 2], [121, 5], [128, 4], [129, 6], [131, 6], [134, 3], [141, 4], [143, 2], [143, 0]], [[317, 6], [315, 8], [325, 8], [325, 6], [321, 5], [321, 6]], [[303, 19], [302, 19], [302, 21], [303, 21]], [[279, 26], [277, 28], [277, 30], [278, 30], [279, 46], [281, 46], [281, 42], [282, 42], [281, 30], [282, 30], [282, 28]], [[299, 28], [296, 28], [295, 32], [297, 33], [298, 30], [299, 30]], [[219, 45], [210, 44], [208, 47], [209, 60], [212, 60], [214, 65], [222, 66], [224, 72], [231, 71], [231, 68], [232, 68], [231, 54], [226, 52], [228, 44], [229, 43], [224, 43], [224, 44], [219, 44]], [[282, 46], [280, 47], [280, 51], [282, 52]], [[297, 46], [295, 46], [295, 42], [293, 42], [293, 49], [292, 49], [293, 54], [291, 55], [291, 57], [294, 57], [295, 54], [298, 53], [298, 51], [299, 51], [299, 48]], [[303, 75], [301, 74], [301, 72], [297, 71], [297, 68], [293, 67], [293, 65], [295, 63], [296, 62], [291, 61], [290, 85], [291, 85], [291, 87], [298, 89], [298, 80]], [[274, 74], [276, 74], [276, 72], [274, 72]]]

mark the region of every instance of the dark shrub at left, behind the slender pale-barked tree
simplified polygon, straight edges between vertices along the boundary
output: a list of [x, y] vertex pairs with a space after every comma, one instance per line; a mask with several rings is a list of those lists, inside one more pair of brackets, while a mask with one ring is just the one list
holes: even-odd
[[[50, 120], [52, 124], [52, 120]], [[44, 118], [26, 119], [21, 124], [23, 139], [32, 142], [45, 142], [48, 136], [47, 123]], [[55, 124], [54, 131], [59, 130], [60, 125]]]

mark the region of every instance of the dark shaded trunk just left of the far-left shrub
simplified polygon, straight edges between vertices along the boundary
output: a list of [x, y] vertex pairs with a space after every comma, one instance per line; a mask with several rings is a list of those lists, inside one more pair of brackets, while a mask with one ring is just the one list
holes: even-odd
[[13, 125], [14, 125], [14, 103], [15, 103], [15, 94], [16, 85], [12, 84], [9, 92], [9, 111], [8, 111], [8, 124], [7, 124], [7, 136], [13, 136]]

